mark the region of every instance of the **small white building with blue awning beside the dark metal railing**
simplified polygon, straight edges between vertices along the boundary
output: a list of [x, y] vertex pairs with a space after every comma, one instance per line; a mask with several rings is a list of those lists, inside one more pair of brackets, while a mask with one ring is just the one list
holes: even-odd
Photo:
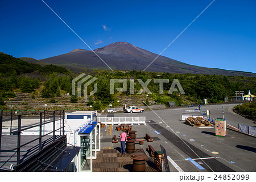
[[[92, 171], [92, 159], [96, 159], [100, 151], [100, 123], [96, 121], [97, 111], [75, 111], [65, 113], [64, 134], [67, 135], [67, 145], [81, 147], [79, 153], [69, 164], [73, 171]], [[42, 134], [53, 131], [50, 119], [44, 121]], [[56, 119], [55, 129], [62, 127], [62, 121]], [[23, 131], [23, 135], [39, 135], [39, 126]], [[60, 131], [61, 132], [61, 131]], [[51, 133], [53, 135], [53, 133]], [[59, 135], [55, 131], [55, 135]]]

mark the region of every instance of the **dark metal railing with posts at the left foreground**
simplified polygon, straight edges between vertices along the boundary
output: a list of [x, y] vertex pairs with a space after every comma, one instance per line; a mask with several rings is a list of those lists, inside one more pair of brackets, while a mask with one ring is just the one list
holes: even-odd
[[[46, 137], [49, 134], [53, 135], [53, 142], [56, 139], [56, 131], [59, 131], [59, 135], [64, 135], [64, 117], [65, 117], [65, 113], [64, 110], [59, 110], [60, 113], [60, 117], [59, 119], [56, 119], [56, 111], [42, 111], [42, 112], [38, 112], [38, 113], [33, 113], [33, 114], [20, 114], [20, 115], [13, 115], [13, 111], [11, 111], [11, 129], [10, 129], [10, 135], [17, 135], [17, 144], [16, 147], [11, 149], [11, 150], [2, 150], [2, 134], [6, 134], [2, 132], [2, 128], [3, 128], [3, 110], [1, 111], [1, 116], [0, 116], [0, 158], [1, 158], [1, 153], [2, 152], [16, 152], [16, 164], [20, 164], [20, 148], [27, 146], [28, 144], [35, 142], [36, 140], [39, 141], [39, 151], [42, 150], [42, 138]], [[52, 121], [47, 121], [45, 122], [45, 117], [47, 115], [51, 115], [51, 117], [53, 117]], [[39, 115], [39, 124], [35, 124], [32, 126], [25, 126], [22, 127], [22, 118], [24, 118], [27, 115]], [[13, 117], [18, 117], [18, 128], [17, 129], [12, 129], [12, 122], [13, 122]], [[60, 126], [58, 129], [55, 129], [55, 123], [56, 121], [60, 121]], [[52, 126], [52, 131], [44, 134], [43, 130], [42, 130], [42, 126], [48, 124], [48, 123], [53, 123]], [[62, 123], [62, 125], [61, 125]], [[39, 137], [30, 140], [27, 143], [21, 144], [21, 135], [22, 135], [22, 131], [28, 130], [28, 129], [32, 129], [34, 127], [39, 127]], [[43, 133], [43, 134], [42, 134]]]

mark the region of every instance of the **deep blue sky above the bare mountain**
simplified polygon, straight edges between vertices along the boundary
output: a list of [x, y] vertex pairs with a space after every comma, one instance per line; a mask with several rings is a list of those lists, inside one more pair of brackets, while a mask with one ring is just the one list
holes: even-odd
[[[156, 54], [212, 2], [44, 1], [92, 49], [120, 41]], [[255, 73], [255, 10], [255, 0], [216, 0], [162, 55]], [[15, 57], [44, 59], [76, 48], [89, 50], [41, 0], [0, 0], [0, 24], [0, 51]]]

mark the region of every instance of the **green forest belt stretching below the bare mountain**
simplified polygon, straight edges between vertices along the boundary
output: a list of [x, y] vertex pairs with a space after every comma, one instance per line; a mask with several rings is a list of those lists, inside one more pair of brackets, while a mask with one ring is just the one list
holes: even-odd
[[[38, 74], [35, 74], [38, 73]], [[0, 105], [4, 105], [4, 100], [15, 97], [15, 92], [34, 93], [40, 88], [42, 98], [55, 98], [61, 94], [72, 93], [72, 80], [79, 74], [74, 74], [66, 68], [56, 65], [41, 66], [39, 64], [27, 63], [10, 55], [0, 54]], [[93, 90], [93, 85], [97, 83], [97, 92], [89, 97], [88, 105], [93, 105], [94, 109], [105, 108], [112, 101], [117, 100], [117, 96], [154, 98], [158, 104], [167, 104], [168, 101], [175, 101], [176, 105], [199, 104], [207, 98], [209, 103], [224, 102], [224, 97], [230, 99], [235, 96], [235, 91], [248, 90], [252, 94], [256, 93], [256, 77], [234, 77], [221, 75], [196, 75], [196, 74], [171, 74], [142, 71], [101, 71], [92, 75], [97, 80], [90, 84], [88, 93]], [[110, 94], [110, 79], [125, 79], [127, 90], [118, 92], [116, 88], [122, 88], [122, 83], [114, 84], [114, 94]], [[140, 80], [143, 83], [151, 79], [146, 85], [151, 94], [146, 92], [138, 93], [142, 89]], [[163, 93], [159, 93], [159, 82], [154, 80], [166, 79], [163, 84]], [[179, 80], [185, 94], [168, 91], [172, 81]], [[168, 82], [167, 82], [168, 80]], [[134, 81], [134, 93], [130, 92], [131, 82]], [[176, 85], [177, 88], [177, 85]], [[83, 92], [82, 92], [83, 93]], [[71, 102], [77, 101], [77, 96], [71, 96]], [[149, 104], [148, 99], [146, 101]]]

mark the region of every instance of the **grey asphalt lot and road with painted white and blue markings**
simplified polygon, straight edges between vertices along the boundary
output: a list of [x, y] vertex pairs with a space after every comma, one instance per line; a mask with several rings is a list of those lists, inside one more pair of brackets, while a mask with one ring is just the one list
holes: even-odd
[[[233, 113], [232, 108], [236, 104], [224, 105], [224, 118], [229, 125], [238, 127], [238, 123], [255, 126], [250, 119], [241, 117]], [[192, 107], [193, 108], [193, 107]], [[145, 133], [159, 140], [145, 142], [143, 146], [138, 146], [146, 150], [151, 144], [156, 151], [160, 150], [160, 145], [166, 148], [167, 155], [183, 171], [256, 171], [256, 138], [245, 134], [228, 130], [226, 137], [215, 135], [214, 125], [209, 128], [198, 128], [185, 125], [181, 121], [181, 114], [188, 108], [176, 108], [165, 110], [146, 110], [143, 113], [114, 113], [114, 117], [123, 116], [145, 116], [147, 125], [133, 125], [139, 138], [143, 138]], [[210, 118], [222, 118], [222, 105], [202, 106], [202, 110], [210, 110]], [[106, 117], [105, 114], [101, 117]], [[113, 134], [119, 132], [113, 128]], [[102, 131], [102, 138], [107, 136]], [[112, 136], [110, 136], [112, 137]], [[102, 143], [102, 147], [119, 146], [118, 144]], [[204, 169], [199, 169], [187, 158], [195, 159]], [[170, 163], [170, 161], [169, 161]], [[171, 165], [171, 171], [177, 171]]]

